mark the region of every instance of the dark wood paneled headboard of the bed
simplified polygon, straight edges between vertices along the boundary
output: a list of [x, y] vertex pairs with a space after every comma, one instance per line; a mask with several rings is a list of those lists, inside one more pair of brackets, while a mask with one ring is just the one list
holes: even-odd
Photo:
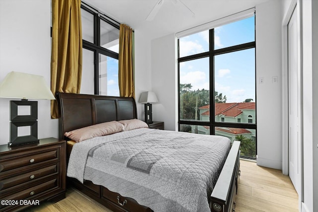
[[137, 119], [135, 99], [74, 93], [56, 93], [59, 105], [59, 138], [65, 132], [90, 125]]

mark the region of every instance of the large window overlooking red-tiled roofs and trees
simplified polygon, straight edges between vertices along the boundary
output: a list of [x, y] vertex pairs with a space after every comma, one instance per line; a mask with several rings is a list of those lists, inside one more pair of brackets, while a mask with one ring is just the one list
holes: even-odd
[[178, 38], [179, 131], [241, 141], [241, 156], [256, 158], [255, 15], [246, 17]]

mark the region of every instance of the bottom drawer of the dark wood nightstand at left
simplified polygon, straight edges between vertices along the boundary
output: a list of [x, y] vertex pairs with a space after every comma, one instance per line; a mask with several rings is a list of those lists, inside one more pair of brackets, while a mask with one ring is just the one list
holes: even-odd
[[[41, 183], [40, 185], [33, 186], [28, 188], [24, 191], [6, 196], [1, 197], [1, 200], [30, 200], [36, 199], [41, 194], [47, 192], [49, 189], [58, 188], [58, 179], [54, 178], [47, 182]], [[0, 209], [4, 208], [5, 206], [0, 205]], [[9, 208], [9, 207], [8, 207]]]

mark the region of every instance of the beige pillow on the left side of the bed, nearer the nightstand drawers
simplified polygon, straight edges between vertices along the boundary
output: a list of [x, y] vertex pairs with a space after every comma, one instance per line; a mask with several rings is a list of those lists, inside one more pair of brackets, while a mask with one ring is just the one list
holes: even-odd
[[92, 139], [94, 137], [119, 133], [123, 130], [124, 126], [122, 124], [116, 121], [111, 121], [66, 132], [64, 135], [73, 141], [79, 142]]

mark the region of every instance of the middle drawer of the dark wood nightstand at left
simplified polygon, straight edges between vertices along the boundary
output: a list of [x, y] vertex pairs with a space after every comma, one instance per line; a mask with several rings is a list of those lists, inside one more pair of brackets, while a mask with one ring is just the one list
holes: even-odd
[[22, 183], [37, 180], [41, 177], [44, 177], [50, 174], [57, 174], [58, 172], [59, 172], [58, 164], [54, 164], [48, 167], [27, 172], [25, 174], [10, 176], [8, 178], [4, 178], [0, 180], [0, 191], [13, 187], [13, 186], [20, 185]]

